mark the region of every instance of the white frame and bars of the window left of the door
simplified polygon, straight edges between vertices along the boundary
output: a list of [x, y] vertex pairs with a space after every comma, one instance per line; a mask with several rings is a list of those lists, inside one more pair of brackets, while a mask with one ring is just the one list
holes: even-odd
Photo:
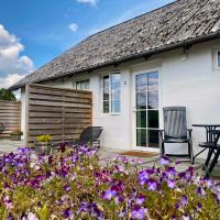
[[[120, 74], [120, 111], [119, 112], [112, 112], [112, 92], [111, 92], [111, 76], [114, 74]], [[103, 112], [103, 77], [108, 76], [109, 77], [109, 112]], [[119, 116], [121, 114], [121, 72], [111, 72], [109, 74], [102, 74], [101, 75], [101, 113], [110, 114], [110, 116]]]

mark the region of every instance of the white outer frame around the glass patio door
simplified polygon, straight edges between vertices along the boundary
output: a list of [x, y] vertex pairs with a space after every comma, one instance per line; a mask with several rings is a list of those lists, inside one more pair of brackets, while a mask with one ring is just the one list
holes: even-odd
[[[140, 74], [147, 74], [147, 73], [153, 73], [157, 72], [158, 73], [158, 111], [161, 109], [161, 68], [145, 68], [145, 69], [140, 69], [140, 70], [133, 70], [132, 72], [132, 89], [131, 89], [131, 103], [132, 103], [132, 109], [131, 109], [131, 120], [132, 120], [132, 150], [133, 151], [147, 151], [147, 152], [156, 152], [160, 153], [160, 147], [143, 147], [143, 146], [136, 146], [136, 94], [135, 94], [135, 76]], [[158, 112], [158, 117], [160, 117]], [[160, 128], [160, 120], [158, 120], [158, 128]]]

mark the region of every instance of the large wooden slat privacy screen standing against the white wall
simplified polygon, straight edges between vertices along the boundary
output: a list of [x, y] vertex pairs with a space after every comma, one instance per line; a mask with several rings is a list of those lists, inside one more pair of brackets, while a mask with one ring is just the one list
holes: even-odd
[[50, 134], [54, 143], [76, 140], [92, 124], [92, 94], [31, 84], [26, 86], [26, 141]]

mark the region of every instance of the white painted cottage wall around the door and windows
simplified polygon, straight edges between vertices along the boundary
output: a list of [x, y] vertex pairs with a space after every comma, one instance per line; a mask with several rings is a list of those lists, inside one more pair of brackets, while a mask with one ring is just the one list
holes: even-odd
[[[50, 85], [74, 88], [75, 80], [90, 78], [90, 90], [94, 92], [94, 125], [105, 128], [101, 145], [130, 150], [132, 147], [131, 79], [133, 69], [160, 68], [161, 128], [163, 128], [162, 108], [166, 106], [186, 106], [189, 128], [193, 123], [220, 123], [220, 70], [215, 70], [212, 57], [212, 52], [218, 46], [220, 47], [220, 40], [194, 45], [187, 51], [187, 58], [184, 57], [183, 50], [176, 50], [152, 56], [148, 61], [130, 62], [118, 66], [117, 69], [114, 67], [97, 69], [89, 75], [66, 77]], [[101, 112], [100, 75], [116, 70], [121, 72], [121, 113], [103, 114]], [[23, 102], [24, 99], [21, 98], [21, 100]], [[24, 124], [23, 120], [24, 118], [22, 118], [22, 124]], [[22, 129], [24, 130], [23, 125]], [[193, 134], [196, 152], [198, 151], [197, 143], [205, 140], [205, 130], [194, 128]], [[183, 147], [170, 145], [167, 150], [179, 153]]]

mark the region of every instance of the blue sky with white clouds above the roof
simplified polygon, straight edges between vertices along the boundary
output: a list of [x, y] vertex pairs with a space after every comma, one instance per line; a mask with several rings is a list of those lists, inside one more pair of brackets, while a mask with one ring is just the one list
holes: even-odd
[[174, 0], [0, 0], [0, 88], [87, 36]]

